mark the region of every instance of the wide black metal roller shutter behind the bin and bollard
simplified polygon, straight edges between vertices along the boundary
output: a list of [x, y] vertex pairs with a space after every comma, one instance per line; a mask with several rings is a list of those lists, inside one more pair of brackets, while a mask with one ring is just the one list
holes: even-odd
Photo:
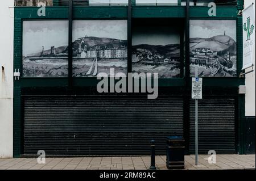
[[166, 136], [183, 136], [183, 98], [25, 96], [24, 154], [165, 154]]

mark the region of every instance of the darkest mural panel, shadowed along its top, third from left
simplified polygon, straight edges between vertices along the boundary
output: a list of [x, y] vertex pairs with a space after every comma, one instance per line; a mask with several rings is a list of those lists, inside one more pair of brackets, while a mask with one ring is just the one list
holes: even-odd
[[169, 26], [133, 27], [133, 72], [180, 77], [179, 30]]

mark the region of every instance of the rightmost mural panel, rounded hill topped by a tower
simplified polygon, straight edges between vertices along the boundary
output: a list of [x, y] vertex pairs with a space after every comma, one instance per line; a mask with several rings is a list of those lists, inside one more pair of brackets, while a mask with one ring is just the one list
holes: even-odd
[[190, 73], [236, 77], [236, 20], [190, 20]]

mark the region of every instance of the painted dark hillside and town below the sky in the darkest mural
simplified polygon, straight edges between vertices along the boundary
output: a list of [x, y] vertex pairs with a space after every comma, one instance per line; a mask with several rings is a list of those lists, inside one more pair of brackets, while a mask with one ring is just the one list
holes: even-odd
[[133, 72], [158, 72], [159, 78], [180, 77], [180, 45], [133, 46]]

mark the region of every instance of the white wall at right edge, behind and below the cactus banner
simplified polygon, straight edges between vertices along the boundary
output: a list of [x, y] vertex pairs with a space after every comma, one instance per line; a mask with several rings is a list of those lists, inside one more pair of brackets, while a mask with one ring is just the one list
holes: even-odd
[[[255, 0], [246, 0], [245, 8], [251, 3], [254, 2], [254, 12], [255, 12]], [[254, 14], [255, 19], [255, 14]], [[255, 44], [254, 44], [255, 49]], [[246, 94], [245, 94], [245, 116], [255, 116], [255, 51], [254, 51], [254, 72], [246, 75], [245, 85], [246, 85]], [[246, 71], [251, 70], [251, 68], [246, 69]]]

